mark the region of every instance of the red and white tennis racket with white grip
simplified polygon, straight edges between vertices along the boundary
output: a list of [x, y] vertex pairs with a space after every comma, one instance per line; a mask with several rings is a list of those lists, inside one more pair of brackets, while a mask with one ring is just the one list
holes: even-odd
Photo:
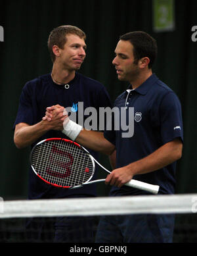
[[[30, 154], [33, 172], [47, 184], [60, 188], [81, 188], [87, 184], [104, 182], [104, 179], [91, 180], [95, 163], [110, 173], [92, 155], [74, 141], [50, 138], [37, 143]], [[125, 184], [150, 193], [158, 193], [159, 186], [130, 180]]]

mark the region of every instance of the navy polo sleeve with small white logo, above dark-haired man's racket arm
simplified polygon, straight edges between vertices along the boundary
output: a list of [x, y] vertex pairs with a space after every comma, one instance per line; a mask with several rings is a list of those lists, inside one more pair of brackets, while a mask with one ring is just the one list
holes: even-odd
[[167, 93], [160, 104], [160, 126], [163, 143], [175, 138], [181, 138], [183, 141], [181, 103], [173, 92]]

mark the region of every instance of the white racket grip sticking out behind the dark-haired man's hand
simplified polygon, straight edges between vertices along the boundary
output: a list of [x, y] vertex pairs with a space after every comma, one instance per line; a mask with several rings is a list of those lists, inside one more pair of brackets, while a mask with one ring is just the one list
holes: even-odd
[[146, 192], [157, 194], [159, 192], [160, 186], [152, 185], [145, 182], [140, 182], [139, 180], [130, 180], [125, 183], [126, 186], [137, 188], [139, 190], [144, 190]]

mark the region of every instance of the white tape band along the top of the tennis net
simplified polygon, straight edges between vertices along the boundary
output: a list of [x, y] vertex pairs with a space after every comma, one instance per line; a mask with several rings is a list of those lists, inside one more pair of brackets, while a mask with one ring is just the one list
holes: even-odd
[[197, 213], [197, 194], [1, 201], [0, 218]]

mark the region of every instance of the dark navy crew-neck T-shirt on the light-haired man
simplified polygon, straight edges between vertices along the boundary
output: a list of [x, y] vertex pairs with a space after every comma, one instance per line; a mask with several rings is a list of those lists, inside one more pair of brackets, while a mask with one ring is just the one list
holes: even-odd
[[[40, 122], [42, 117], [45, 116], [46, 108], [56, 104], [62, 107], [73, 108], [73, 111], [76, 111], [76, 117], [77, 111], [79, 110], [77, 109], [79, 102], [83, 103], [84, 110], [87, 107], [94, 107], [97, 109], [97, 113], [99, 113], [99, 107], [112, 107], [108, 92], [100, 82], [76, 72], [74, 80], [70, 81], [68, 84], [68, 89], [63, 85], [55, 84], [51, 79], [51, 74], [39, 76], [39, 78], [28, 82], [22, 89], [20, 95], [18, 113], [13, 129], [16, 124], [20, 122], [25, 122], [30, 125], [37, 124], [37, 122]], [[88, 117], [89, 115], [84, 115], [84, 121]], [[39, 140], [35, 141], [35, 143], [46, 138], [66, 138], [69, 140], [62, 132], [50, 130], [39, 138]], [[32, 147], [35, 143], [32, 144]], [[95, 159], [98, 158], [98, 153], [91, 150], [89, 150], [89, 152]], [[30, 199], [97, 195], [96, 186], [94, 184], [76, 190], [56, 188], [45, 184], [45, 182], [39, 179], [33, 173], [31, 167], [29, 176]], [[95, 176], [93, 178], [95, 178]]]

